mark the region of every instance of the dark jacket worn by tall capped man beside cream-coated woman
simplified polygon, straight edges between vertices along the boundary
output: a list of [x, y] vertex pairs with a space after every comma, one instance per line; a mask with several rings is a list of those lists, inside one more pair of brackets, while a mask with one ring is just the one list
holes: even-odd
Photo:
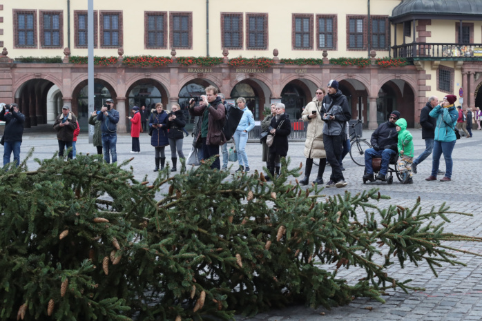
[[351, 108], [348, 99], [341, 90], [337, 90], [333, 95], [326, 95], [322, 101], [322, 114], [330, 114], [334, 120], [323, 119], [327, 124], [323, 127], [323, 135], [339, 136], [345, 134], [347, 121], [351, 119]]

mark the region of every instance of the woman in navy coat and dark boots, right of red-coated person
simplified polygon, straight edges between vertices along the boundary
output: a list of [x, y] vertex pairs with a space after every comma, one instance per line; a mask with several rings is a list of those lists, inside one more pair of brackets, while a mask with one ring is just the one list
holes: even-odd
[[151, 145], [155, 148], [155, 168], [154, 171], [159, 171], [159, 164], [161, 164], [161, 171], [164, 169], [166, 162], [166, 154], [164, 148], [168, 146], [167, 137], [167, 113], [162, 108], [162, 103], [155, 104], [155, 109], [151, 110], [151, 117], [149, 117], [149, 130], [152, 130]]

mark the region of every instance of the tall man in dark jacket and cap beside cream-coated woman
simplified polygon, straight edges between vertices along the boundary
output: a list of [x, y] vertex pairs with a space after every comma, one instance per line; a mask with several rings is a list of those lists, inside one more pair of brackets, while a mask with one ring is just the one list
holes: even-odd
[[345, 187], [345, 177], [338, 159], [343, 153], [343, 143], [347, 139], [347, 121], [351, 119], [351, 108], [348, 99], [338, 89], [338, 81], [331, 79], [327, 86], [327, 95], [322, 100], [320, 113], [325, 121], [323, 126], [323, 144], [327, 153], [327, 162], [331, 165], [331, 175], [327, 187]]

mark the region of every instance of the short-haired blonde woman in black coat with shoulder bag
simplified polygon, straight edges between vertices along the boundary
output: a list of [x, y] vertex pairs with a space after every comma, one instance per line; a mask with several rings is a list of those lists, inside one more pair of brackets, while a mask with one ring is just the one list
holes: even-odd
[[[273, 136], [273, 144], [269, 147], [269, 166], [268, 171], [274, 177], [276, 157], [288, 155], [288, 136], [291, 133], [291, 121], [285, 113], [285, 104], [276, 104], [276, 116], [271, 119], [269, 134]], [[267, 180], [270, 178], [267, 177]]]

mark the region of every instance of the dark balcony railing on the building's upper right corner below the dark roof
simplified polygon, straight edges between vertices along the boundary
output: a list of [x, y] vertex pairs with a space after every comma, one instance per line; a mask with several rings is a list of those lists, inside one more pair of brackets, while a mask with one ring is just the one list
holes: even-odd
[[482, 58], [482, 43], [413, 42], [392, 49], [395, 58]]

